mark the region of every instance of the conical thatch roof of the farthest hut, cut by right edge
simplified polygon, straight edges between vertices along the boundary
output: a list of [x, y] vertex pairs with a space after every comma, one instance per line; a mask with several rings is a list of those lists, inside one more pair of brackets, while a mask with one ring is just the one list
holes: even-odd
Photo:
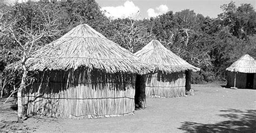
[[244, 55], [226, 70], [232, 72], [256, 73], [256, 62], [250, 55]]

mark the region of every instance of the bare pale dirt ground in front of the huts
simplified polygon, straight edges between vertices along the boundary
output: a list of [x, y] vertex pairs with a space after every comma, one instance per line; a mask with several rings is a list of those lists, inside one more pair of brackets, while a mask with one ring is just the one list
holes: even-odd
[[135, 115], [74, 120], [30, 117], [17, 124], [15, 99], [0, 101], [0, 132], [256, 132], [256, 90], [192, 85], [195, 95], [147, 99]]

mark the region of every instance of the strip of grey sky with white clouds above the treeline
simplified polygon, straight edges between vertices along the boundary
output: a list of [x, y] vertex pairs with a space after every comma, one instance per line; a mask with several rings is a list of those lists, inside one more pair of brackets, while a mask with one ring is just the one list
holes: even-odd
[[[233, 0], [237, 6], [250, 3], [255, 9], [255, 0]], [[167, 11], [194, 10], [196, 13], [216, 18], [221, 13], [220, 5], [230, 3], [230, 0], [96, 0], [111, 18], [132, 17], [137, 19], [156, 17]]]

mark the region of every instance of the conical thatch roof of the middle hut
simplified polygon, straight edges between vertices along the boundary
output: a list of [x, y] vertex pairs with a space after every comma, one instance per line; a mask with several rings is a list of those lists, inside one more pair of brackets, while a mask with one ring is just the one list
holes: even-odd
[[152, 40], [149, 44], [135, 53], [140, 60], [152, 65], [155, 71], [167, 73], [184, 70], [199, 71], [200, 69], [187, 63], [185, 60], [173, 54], [165, 48], [158, 40]]

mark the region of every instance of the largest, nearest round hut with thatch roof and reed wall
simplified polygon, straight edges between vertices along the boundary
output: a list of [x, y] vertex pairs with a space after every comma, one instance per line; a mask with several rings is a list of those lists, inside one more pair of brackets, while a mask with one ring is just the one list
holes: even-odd
[[76, 119], [133, 114], [136, 74], [150, 71], [86, 24], [37, 50], [26, 66], [36, 76], [23, 92], [25, 113]]

